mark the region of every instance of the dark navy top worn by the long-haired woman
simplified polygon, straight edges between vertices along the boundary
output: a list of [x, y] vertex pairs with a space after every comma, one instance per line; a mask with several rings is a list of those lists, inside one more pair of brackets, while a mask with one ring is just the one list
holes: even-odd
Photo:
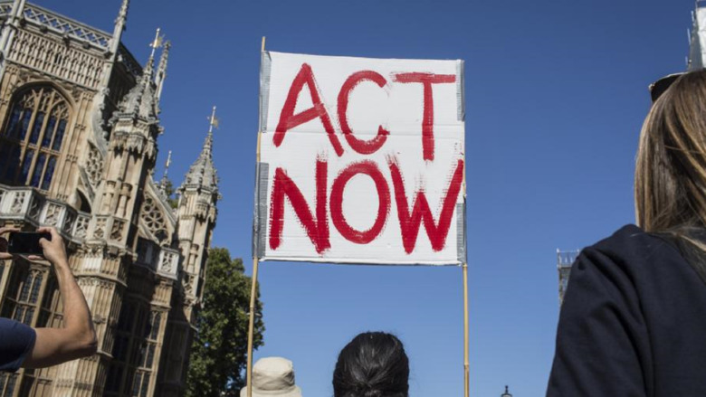
[[581, 252], [547, 395], [706, 396], [706, 284], [673, 242], [628, 225]]

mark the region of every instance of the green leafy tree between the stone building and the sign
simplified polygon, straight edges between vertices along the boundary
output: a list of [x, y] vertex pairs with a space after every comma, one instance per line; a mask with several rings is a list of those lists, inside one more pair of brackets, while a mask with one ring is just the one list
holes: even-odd
[[[243, 260], [231, 259], [224, 248], [208, 251], [203, 309], [191, 346], [186, 396], [237, 395], [245, 384], [248, 310], [252, 280], [243, 274]], [[256, 314], [262, 313], [260, 292]], [[255, 348], [262, 345], [262, 317], [255, 317]]]

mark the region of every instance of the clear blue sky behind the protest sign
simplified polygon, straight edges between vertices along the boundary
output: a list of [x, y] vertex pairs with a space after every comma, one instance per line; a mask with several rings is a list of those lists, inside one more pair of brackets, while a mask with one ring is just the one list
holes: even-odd
[[[119, 0], [41, 0], [112, 31]], [[466, 61], [472, 396], [540, 396], [558, 320], [556, 250], [633, 222], [634, 152], [647, 85], [682, 71], [691, 0], [133, 0], [124, 42], [139, 61], [172, 41], [159, 162], [176, 184], [218, 106], [214, 245], [250, 271], [260, 40], [268, 49]], [[160, 174], [157, 174], [160, 175]], [[405, 343], [411, 395], [463, 395], [458, 268], [288, 263], [261, 267], [266, 345], [294, 361], [307, 397], [332, 395], [358, 332]]]

